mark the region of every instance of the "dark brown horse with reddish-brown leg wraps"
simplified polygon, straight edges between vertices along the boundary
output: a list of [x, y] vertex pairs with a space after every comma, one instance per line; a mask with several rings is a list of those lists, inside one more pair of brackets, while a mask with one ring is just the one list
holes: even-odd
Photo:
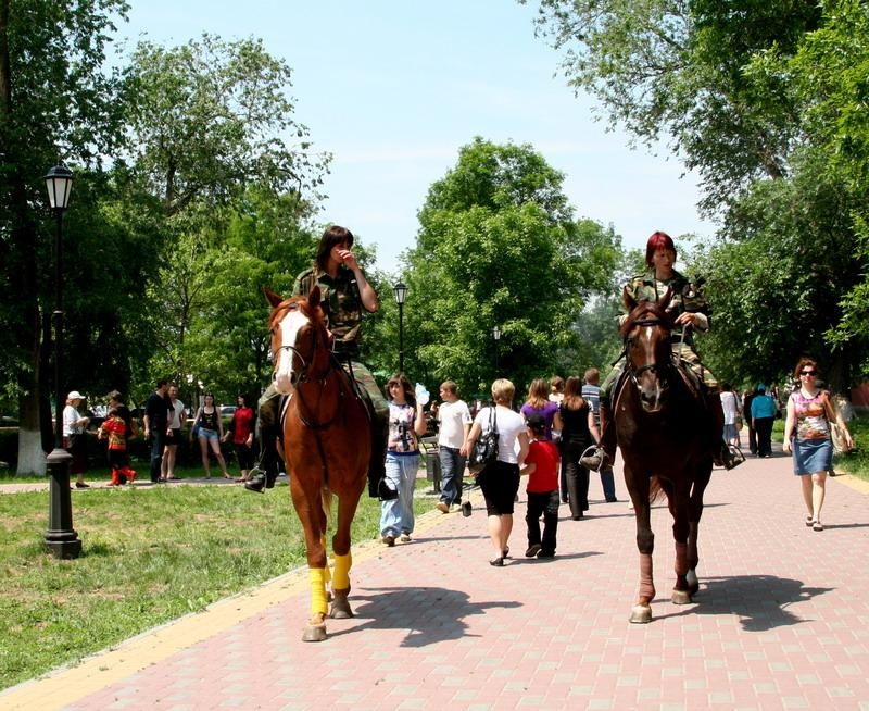
[[627, 290], [622, 298], [630, 312], [621, 327], [626, 376], [613, 400], [613, 417], [640, 550], [640, 591], [630, 621], [644, 623], [652, 620], [650, 603], [655, 597], [651, 504], [662, 491], [673, 519], [672, 601], [691, 602], [700, 587], [697, 526], [703, 492], [711, 476], [715, 442], [710, 441], [711, 415], [700, 394], [700, 384], [673, 360], [673, 322], [662, 305], [669, 303], [669, 289], [657, 303], [637, 303]]

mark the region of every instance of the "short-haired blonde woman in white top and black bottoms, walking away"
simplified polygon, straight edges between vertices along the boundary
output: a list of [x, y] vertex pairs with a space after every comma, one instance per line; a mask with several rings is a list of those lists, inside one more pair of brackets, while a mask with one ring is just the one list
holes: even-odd
[[[474, 444], [479, 439], [483, 427], [489, 426], [489, 414], [494, 410], [492, 414], [499, 434], [498, 459], [477, 474], [477, 482], [486, 500], [489, 539], [495, 551], [495, 557], [489, 564], [496, 566], [502, 566], [504, 559], [509, 556], [507, 544], [513, 531], [513, 506], [519, 490], [519, 467], [525, 464], [528, 454], [525, 417], [511, 409], [515, 394], [516, 387], [505, 378], [492, 383], [494, 406], [480, 409], [470, 427], [467, 442], [462, 447], [463, 457], [468, 457], [474, 451]], [[517, 441], [518, 452], [515, 449]]]

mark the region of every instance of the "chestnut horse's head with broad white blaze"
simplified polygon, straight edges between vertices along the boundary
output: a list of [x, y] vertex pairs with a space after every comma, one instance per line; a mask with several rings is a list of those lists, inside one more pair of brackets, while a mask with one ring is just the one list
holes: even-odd
[[319, 287], [315, 286], [307, 297], [290, 299], [268, 288], [263, 292], [272, 304], [272, 377], [278, 392], [289, 395], [300, 381], [315, 379], [329, 367], [329, 337], [319, 305]]

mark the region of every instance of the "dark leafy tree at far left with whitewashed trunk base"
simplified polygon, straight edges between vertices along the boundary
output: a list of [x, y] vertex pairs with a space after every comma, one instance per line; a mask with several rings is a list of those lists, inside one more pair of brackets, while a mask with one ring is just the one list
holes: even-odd
[[[47, 404], [53, 389], [45, 359], [46, 319], [53, 309], [53, 221], [40, 209], [40, 178], [59, 157], [73, 167], [97, 170], [99, 157], [118, 146], [119, 74], [100, 67], [114, 29], [110, 17], [126, 10], [123, 0], [0, 0], [0, 273], [10, 295], [0, 307], [0, 369], [7, 394], [18, 398], [22, 473], [45, 472], [40, 410], [48, 415], [49, 408], [40, 403]], [[81, 236], [91, 208], [72, 202], [68, 242]], [[65, 272], [75, 269], [67, 260]], [[50, 422], [42, 417], [43, 429]]]

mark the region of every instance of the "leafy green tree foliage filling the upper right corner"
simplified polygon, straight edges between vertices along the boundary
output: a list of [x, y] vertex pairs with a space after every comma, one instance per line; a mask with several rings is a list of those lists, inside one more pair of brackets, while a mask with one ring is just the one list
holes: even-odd
[[852, 382], [869, 356], [865, 3], [540, 5], [574, 85], [635, 139], [669, 140], [722, 221], [698, 253], [716, 305], [704, 357], [751, 382], [810, 351], [835, 387]]

